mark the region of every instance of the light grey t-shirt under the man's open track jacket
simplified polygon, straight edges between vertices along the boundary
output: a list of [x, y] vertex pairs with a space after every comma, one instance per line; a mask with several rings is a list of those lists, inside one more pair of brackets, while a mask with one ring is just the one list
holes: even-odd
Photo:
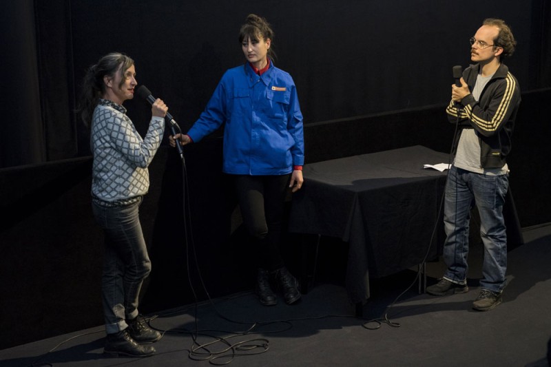
[[[475, 87], [472, 89], [472, 96], [478, 101], [484, 87], [490, 81], [493, 74], [490, 76], [482, 76], [478, 74]], [[453, 162], [455, 167], [465, 169], [466, 171], [475, 172], [477, 174], [486, 174], [497, 176], [507, 174], [509, 168], [507, 164], [501, 168], [483, 168], [480, 165], [480, 143], [479, 137], [475, 129], [464, 129], [459, 137], [459, 145], [457, 146], [457, 154]]]

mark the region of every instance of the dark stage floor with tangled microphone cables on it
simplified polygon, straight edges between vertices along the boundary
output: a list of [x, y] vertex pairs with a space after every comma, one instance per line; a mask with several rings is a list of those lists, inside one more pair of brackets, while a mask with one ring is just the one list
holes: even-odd
[[[342, 286], [320, 282], [294, 306], [262, 307], [246, 292], [152, 315], [151, 325], [166, 331], [153, 357], [106, 357], [98, 326], [0, 350], [0, 366], [548, 366], [551, 225], [523, 235], [525, 244], [509, 253], [503, 304], [492, 311], [471, 308], [480, 277], [473, 250], [468, 293], [419, 295], [416, 273], [408, 270], [373, 280], [364, 319], [353, 316]], [[428, 263], [429, 284], [442, 269]], [[399, 326], [364, 328], [385, 310]]]

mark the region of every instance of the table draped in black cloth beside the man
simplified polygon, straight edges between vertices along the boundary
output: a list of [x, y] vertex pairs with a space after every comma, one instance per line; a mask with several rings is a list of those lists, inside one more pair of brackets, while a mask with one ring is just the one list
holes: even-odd
[[[429, 259], [441, 253], [439, 207], [447, 171], [424, 165], [448, 160], [446, 153], [417, 145], [305, 165], [289, 231], [348, 242], [346, 290], [351, 302], [363, 303], [370, 296], [369, 277], [416, 266], [427, 252]], [[518, 220], [513, 224], [520, 233]]]

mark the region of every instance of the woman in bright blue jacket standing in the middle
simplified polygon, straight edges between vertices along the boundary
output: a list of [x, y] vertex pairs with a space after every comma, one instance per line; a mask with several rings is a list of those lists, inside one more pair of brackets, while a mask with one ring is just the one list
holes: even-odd
[[205, 111], [187, 134], [171, 137], [186, 145], [198, 142], [222, 124], [222, 170], [231, 175], [245, 227], [258, 247], [256, 294], [260, 303], [277, 303], [270, 275], [280, 284], [284, 300], [300, 299], [298, 282], [280, 254], [280, 233], [287, 187], [302, 186], [304, 139], [302, 113], [293, 78], [273, 65], [269, 23], [249, 14], [239, 41], [247, 63], [225, 72]]

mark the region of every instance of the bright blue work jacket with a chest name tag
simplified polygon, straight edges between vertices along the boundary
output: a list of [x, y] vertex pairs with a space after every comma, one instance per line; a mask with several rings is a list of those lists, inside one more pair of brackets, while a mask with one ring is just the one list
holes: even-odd
[[198, 142], [222, 124], [225, 173], [282, 175], [304, 165], [295, 83], [273, 62], [261, 76], [249, 63], [227, 70], [187, 134]]

